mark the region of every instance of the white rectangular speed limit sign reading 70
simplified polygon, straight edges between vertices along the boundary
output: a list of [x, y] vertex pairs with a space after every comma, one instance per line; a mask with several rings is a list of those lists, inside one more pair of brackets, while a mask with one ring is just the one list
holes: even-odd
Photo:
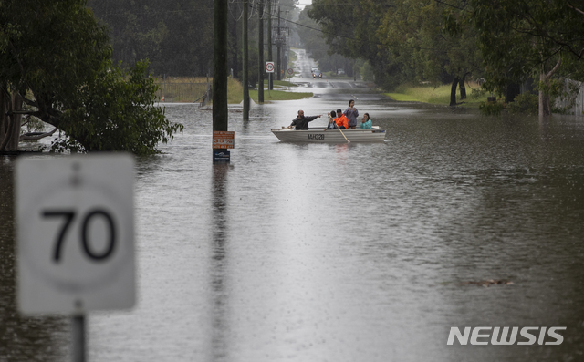
[[134, 305], [133, 166], [130, 155], [16, 162], [21, 312]]

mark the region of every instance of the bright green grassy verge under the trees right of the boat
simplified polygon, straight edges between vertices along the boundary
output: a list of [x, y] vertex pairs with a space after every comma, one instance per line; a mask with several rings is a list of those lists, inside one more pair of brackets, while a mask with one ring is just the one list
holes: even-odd
[[[462, 100], [464, 102], [463, 106], [478, 108], [478, 105], [486, 100], [485, 94], [479, 92], [478, 89], [479, 86], [477, 84], [469, 84], [466, 87], [466, 99]], [[392, 93], [384, 94], [398, 101], [414, 101], [447, 106], [450, 104], [450, 90], [450, 84], [444, 84], [439, 87], [412, 86], [406, 84], [395, 88], [395, 91]], [[457, 88], [456, 90], [456, 101], [461, 102], [460, 89]]]

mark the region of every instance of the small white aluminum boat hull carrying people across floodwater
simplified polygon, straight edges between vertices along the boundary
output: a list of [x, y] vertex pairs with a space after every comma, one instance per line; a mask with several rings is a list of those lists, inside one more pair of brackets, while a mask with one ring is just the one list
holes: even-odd
[[347, 143], [347, 140], [351, 142], [382, 142], [385, 140], [385, 129], [380, 129], [379, 126], [373, 126], [372, 129], [342, 129], [342, 133], [339, 129], [295, 130], [282, 127], [282, 129], [272, 129], [272, 133], [283, 142]]

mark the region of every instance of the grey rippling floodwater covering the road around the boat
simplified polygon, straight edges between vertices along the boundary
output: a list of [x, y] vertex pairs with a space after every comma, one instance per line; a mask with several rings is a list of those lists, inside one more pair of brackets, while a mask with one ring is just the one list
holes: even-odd
[[[166, 105], [185, 129], [137, 159], [138, 302], [89, 314], [89, 361], [582, 360], [584, 120], [485, 118], [343, 84], [247, 123], [232, 109], [230, 164], [212, 164], [211, 111]], [[385, 142], [269, 131], [349, 98]], [[0, 361], [68, 360], [68, 318], [16, 312], [14, 162], [0, 162]], [[491, 279], [513, 284], [467, 283]], [[567, 329], [559, 346], [447, 346], [452, 326]]]

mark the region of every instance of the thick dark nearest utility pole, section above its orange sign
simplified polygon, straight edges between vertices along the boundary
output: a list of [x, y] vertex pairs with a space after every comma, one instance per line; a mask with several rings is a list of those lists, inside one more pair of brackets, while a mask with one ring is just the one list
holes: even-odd
[[213, 130], [227, 130], [227, 0], [214, 0]]

